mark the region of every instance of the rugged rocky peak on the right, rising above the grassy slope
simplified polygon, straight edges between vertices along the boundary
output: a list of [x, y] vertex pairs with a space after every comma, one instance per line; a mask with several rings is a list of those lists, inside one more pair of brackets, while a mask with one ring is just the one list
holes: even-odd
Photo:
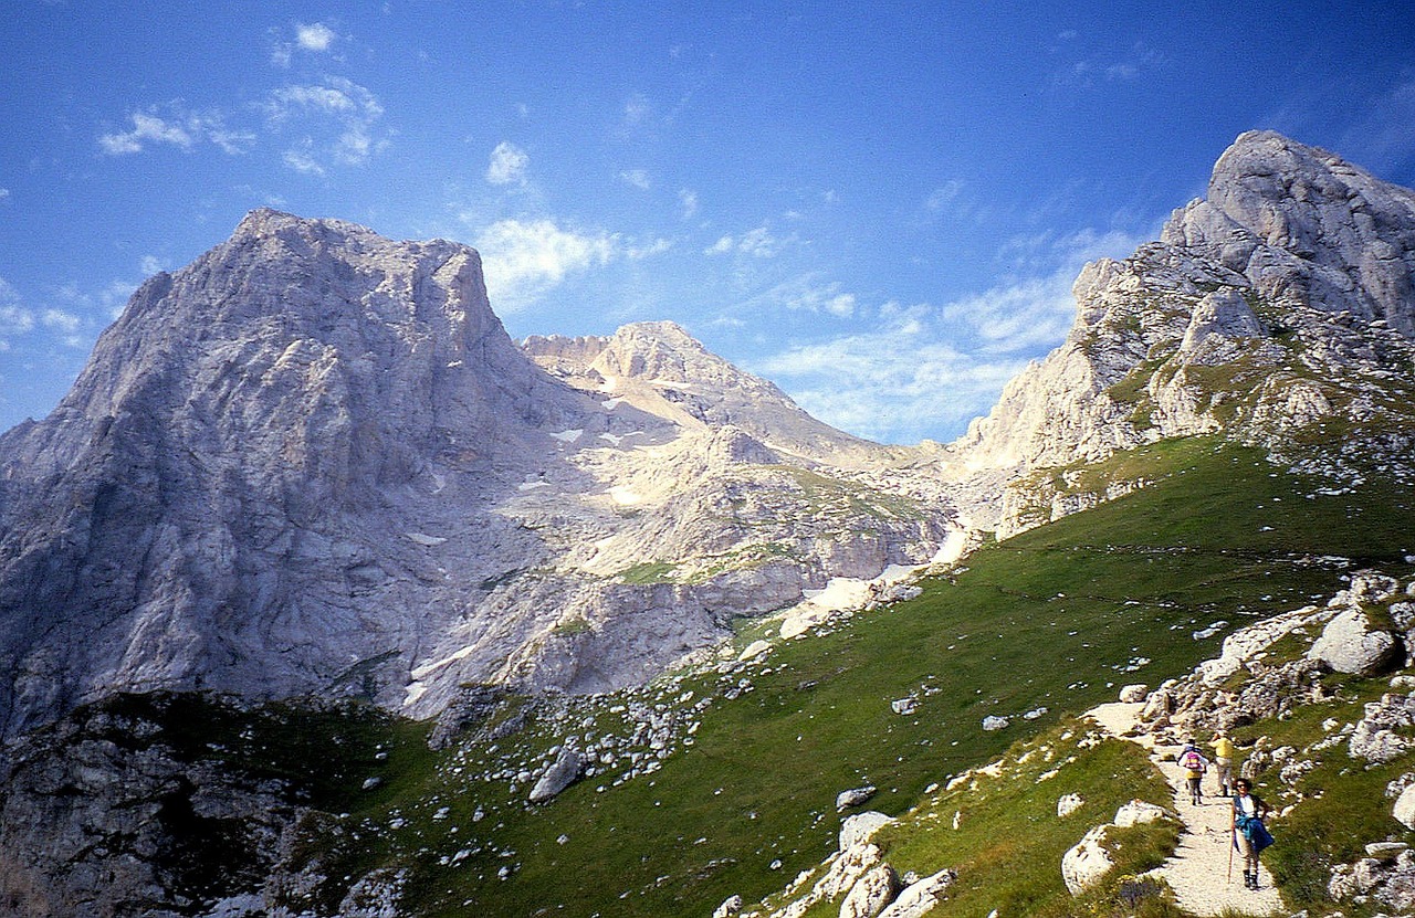
[[[952, 474], [1215, 431], [1289, 457], [1333, 426], [1392, 460], [1409, 443], [1415, 192], [1330, 153], [1242, 134], [1206, 201], [1129, 259], [1088, 265], [1074, 293], [1065, 342], [948, 447]], [[1005, 530], [1037, 522], [1010, 516]]]

